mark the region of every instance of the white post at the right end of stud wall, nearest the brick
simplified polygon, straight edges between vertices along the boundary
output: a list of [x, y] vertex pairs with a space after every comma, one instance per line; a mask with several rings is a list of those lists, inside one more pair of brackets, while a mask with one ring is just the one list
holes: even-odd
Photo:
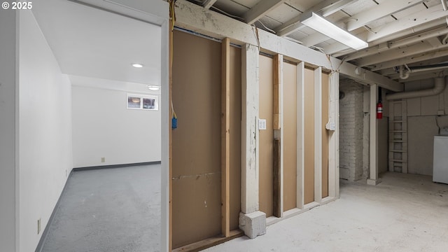
[[[330, 73], [328, 136], [328, 196], [339, 197], [339, 73]], [[332, 125], [334, 123], [334, 125]], [[334, 126], [334, 127], [333, 127]]]

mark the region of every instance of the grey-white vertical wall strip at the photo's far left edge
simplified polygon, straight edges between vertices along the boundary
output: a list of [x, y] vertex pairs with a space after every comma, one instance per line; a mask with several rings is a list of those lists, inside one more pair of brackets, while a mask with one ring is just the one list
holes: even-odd
[[0, 246], [18, 242], [18, 11], [0, 10]]

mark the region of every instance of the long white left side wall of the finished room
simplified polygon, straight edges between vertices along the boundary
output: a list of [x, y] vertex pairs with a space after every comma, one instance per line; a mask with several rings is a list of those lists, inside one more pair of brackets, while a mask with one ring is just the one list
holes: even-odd
[[71, 83], [30, 10], [20, 10], [19, 76], [19, 239], [20, 251], [28, 252], [36, 249], [73, 167]]

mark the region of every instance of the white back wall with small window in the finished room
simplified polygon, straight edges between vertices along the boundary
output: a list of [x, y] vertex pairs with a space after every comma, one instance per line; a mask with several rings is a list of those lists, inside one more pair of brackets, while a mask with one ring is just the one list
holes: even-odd
[[[72, 87], [73, 167], [160, 161], [160, 107], [158, 111], [126, 107], [127, 93], [153, 94], [87, 87], [83, 78], [75, 81]], [[141, 86], [148, 90], [146, 85]]]

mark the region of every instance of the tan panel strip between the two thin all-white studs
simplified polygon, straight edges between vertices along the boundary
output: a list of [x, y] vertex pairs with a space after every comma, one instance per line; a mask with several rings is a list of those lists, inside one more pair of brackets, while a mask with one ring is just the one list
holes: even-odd
[[304, 72], [304, 204], [308, 204], [314, 202], [314, 69]]

